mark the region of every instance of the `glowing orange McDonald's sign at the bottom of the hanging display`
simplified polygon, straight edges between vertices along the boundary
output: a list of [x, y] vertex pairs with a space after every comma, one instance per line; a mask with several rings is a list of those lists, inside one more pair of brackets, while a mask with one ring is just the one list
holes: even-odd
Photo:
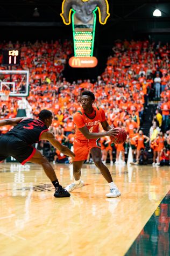
[[96, 57], [72, 57], [69, 59], [70, 67], [96, 67], [97, 63]]

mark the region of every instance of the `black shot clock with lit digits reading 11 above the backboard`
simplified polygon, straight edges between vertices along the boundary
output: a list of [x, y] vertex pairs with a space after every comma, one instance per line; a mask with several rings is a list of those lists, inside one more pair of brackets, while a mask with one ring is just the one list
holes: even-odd
[[20, 51], [15, 49], [2, 50], [2, 64], [3, 65], [19, 65]]

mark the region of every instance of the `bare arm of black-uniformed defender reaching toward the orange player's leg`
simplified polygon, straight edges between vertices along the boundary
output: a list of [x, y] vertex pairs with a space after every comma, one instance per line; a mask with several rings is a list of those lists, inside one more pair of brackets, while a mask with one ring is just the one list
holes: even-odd
[[58, 140], [55, 139], [55, 136], [53, 133], [51, 132], [44, 132], [41, 134], [40, 140], [47, 140], [49, 141], [52, 146], [58, 150], [60, 150], [60, 152], [66, 156], [70, 156], [72, 158], [75, 157], [75, 154], [69, 150], [69, 148], [67, 148], [66, 146], [62, 145]]

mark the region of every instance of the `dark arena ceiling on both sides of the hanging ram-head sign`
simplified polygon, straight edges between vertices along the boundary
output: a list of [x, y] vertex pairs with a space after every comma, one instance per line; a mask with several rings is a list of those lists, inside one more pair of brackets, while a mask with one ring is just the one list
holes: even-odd
[[[170, 1], [108, 0], [111, 24], [138, 20], [155, 20], [155, 8], [162, 12], [160, 21], [170, 20]], [[1, 0], [0, 26], [63, 26], [60, 12], [62, 0]], [[33, 17], [37, 8], [39, 17]]]

